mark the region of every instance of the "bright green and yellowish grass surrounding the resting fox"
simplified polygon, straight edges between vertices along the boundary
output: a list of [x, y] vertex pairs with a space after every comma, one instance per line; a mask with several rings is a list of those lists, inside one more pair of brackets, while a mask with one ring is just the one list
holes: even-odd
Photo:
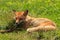
[[[13, 19], [12, 10], [24, 11], [28, 9], [30, 16], [44, 17], [54, 21], [57, 30], [43, 32], [42, 40], [60, 40], [60, 0], [0, 0], [0, 26], [7, 26]], [[37, 40], [37, 33], [31, 35], [26, 31], [0, 33], [0, 40]]]

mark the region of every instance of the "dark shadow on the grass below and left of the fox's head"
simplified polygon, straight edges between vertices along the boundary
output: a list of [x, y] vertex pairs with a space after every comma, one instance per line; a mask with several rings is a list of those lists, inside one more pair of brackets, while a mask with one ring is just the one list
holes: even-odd
[[25, 29], [23, 29], [23, 25], [24, 22], [19, 23], [19, 24], [15, 24], [15, 20], [11, 20], [8, 25], [6, 27], [0, 26], [0, 31], [1, 33], [9, 33], [9, 32], [13, 32], [13, 31], [23, 31]]

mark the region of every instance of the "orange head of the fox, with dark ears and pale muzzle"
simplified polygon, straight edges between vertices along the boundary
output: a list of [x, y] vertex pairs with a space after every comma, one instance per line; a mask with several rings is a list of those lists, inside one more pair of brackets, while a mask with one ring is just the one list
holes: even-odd
[[13, 11], [15, 13], [15, 19], [16, 19], [15, 23], [16, 24], [19, 24], [19, 23], [25, 21], [26, 16], [28, 14], [28, 10], [25, 10], [25, 11], [22, 11], [22, 12], [16, 12], [15, 10], [13, 10]]

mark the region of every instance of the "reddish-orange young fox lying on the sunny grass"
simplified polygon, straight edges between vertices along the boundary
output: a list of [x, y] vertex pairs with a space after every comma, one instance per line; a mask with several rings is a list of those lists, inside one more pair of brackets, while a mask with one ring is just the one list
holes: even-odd
[[16, 24], [19, 24], [19, 22], [25, 22], [24, 27], [27, 28], [27, 32], [34, 32], [39, 30], [48, 31], [56, 29], [56, 24], [47, 18], [33, 18], [28, 16], [28, 10], [22, 12], [14, 12]]

